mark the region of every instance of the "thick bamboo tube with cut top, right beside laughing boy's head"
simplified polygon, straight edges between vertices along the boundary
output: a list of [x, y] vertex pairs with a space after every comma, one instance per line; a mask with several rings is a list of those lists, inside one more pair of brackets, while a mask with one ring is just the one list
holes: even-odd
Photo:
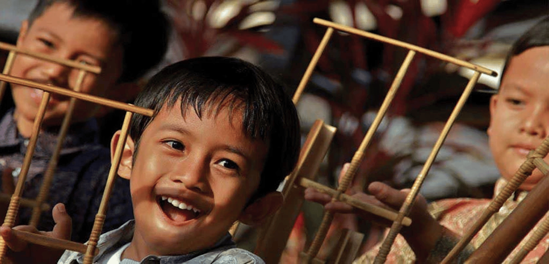
[[278, 263], [304, 200], [304, 188], [299, 186], [298, 180], [316, 178], [334, 134], [335, 128], [322, 120], [316, 120], [309, 131], [298, 164], [285, 182], [284, 203], [259, 234], [255, 254], [266, 263]]

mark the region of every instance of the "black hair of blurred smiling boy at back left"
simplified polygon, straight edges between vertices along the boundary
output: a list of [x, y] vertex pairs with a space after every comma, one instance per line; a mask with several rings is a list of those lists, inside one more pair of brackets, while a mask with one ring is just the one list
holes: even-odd
[[167, 49], [170, 23], [159, 0], [38, 0], [32, 22], [55, 3], [74, 7], [75, 17], [101, 19], [117, 31], [124, 49], [119, 82], [135, 81], [158, 64]]

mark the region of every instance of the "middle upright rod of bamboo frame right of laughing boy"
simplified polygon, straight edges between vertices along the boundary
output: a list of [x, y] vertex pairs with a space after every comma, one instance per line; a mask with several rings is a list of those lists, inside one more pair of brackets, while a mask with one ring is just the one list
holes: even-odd
[[[372, 125], [368, 129], [368, 132], [366, 133], [366, 136], [364, 137], [360, 146], [358, 147], [358, 150], [355, 152], [355, 155], [352, 157], [351, 164], [349, 165], [349, 169], [345, 172], [343, 179], [339, 183], [338, 193], [334, 197], [334, 200], [338, 200], [340, 195], [344, 193], [349, 187], [352, 178], [356, 174], [358, 165], [360, 165], [360, 163], [362, 162], [362, 159], [364, 157], [364, 151], [372, 141], [372, 137], [374, 133], [376, 133], [376, 130], [379, 127], [379, 124], [381, 123], [383, 116], [385, 116], [385, 113], [387, 112], [389, 105], [391, 104], [391, 101], [393, 101], [396, 91], [399, 89], [402, 79], [404, 79], [406, 71], [408, 70], [408, 66], [410, 66], [413, 56], [415, 54], [416, 54], [416, 51], [413, 51], [413, 50], [408, 51], [408, 55], [406, 55], [404, 62], [402, 62], [402, 65], [396, 74], [393, 84], [391, 84], [391, 88], [389, 88], [389, 91], [385, 96], [383, 104], [379, 108], [376, 118], [374, 119]], [[321, 225], [318, 228], [318, 231], [315, 235], [315, 239], [313, 239], [311, 246], [309, 246], [309, 250], [307, 250], [307, 256], [306, 256], [306, 259], [304, 260], [305, 262], [310, 262], [318, 254], [318, 250], [320, 249], [322, 242], [324, 242], [324, 238], [326, 237], [326, 233], [328, 232], [328, 228], [332, 223], [332, 220], [333, 220], [333, 212], [325, 211], [324, 216], [322, 218]]]

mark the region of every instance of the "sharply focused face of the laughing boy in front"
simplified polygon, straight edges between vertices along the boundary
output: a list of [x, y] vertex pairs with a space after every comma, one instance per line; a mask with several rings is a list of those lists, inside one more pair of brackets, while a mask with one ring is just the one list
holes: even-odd
[[133, 162], [129, 137], [122, 154], [119, 175], [130, 179], [136, 219], [132, 246], [144, 256], [186, 254], [225, 236], [248, 212], [267, 155], [264, 141], [243, 133], [240, 111], [232, 122], [227, 107], [202, 119], [188, 108], [183, 118], [179, 105], [148, 125]]

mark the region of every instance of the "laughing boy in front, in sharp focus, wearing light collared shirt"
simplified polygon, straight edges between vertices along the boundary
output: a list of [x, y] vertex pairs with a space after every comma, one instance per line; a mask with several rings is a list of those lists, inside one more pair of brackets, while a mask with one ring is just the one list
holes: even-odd
[[[282, 85], [239, 59], [196, 58], [157, 73], [136, 105], [155, 114], [132, 118], [118, 170], [130, 180], [135, 221], [101, 236], [94, 263], [264, 263], [235, 248], [228, 229], [260, 222], [282, 204], [276, 188], [300, 146]], [[57, 206], [50, 235], [62, 238], [70, 217]], [[7, 227], [0, 233], [13, 250], [30, 250], [26, 257], [48, 255]], [[82, 254], [65, 251], [58, 263], [74, 260]]]

